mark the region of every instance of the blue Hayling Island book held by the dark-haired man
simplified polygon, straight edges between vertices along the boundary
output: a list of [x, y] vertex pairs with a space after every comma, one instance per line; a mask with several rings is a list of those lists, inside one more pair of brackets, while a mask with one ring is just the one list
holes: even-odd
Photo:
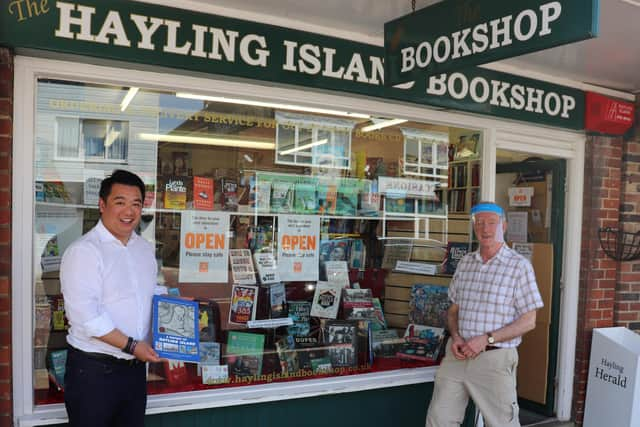
[[153, 297], [153, 348], [160, 357], [200, 360], [199, 310], [196, 301], [165, 295]]

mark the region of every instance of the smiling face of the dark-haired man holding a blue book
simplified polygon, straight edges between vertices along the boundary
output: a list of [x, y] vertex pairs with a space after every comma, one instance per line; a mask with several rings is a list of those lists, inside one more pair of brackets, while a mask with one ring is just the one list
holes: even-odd
[[142, 194], [132, 185], [113, 184], [107, 199], [99, 201], [102, 223], [126, 245], [142, 214]]

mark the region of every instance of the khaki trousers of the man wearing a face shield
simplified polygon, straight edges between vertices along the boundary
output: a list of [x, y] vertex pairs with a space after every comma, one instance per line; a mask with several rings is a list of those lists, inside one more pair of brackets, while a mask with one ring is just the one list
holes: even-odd
[[433, 398], [427, 412], [426, 427], [458, 427], [464, 420], [469, 401], [489, 427], [520, 427], [515, 348], [485, 351], [475, 359], [458, 360], [451, 341], [436, 373]]

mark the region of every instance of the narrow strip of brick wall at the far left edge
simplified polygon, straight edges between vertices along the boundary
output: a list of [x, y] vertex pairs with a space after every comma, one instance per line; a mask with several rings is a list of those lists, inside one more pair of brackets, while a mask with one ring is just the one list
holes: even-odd
[[11, 144], [13, 53], [0, 48], [0, 426], [11, 426]]

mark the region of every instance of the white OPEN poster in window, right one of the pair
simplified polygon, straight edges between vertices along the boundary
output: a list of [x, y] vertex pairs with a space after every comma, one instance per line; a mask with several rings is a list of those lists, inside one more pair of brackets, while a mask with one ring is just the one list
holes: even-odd
[[318, 280], [320, 217], [280, 215], [278, 271], [287, 281]]

